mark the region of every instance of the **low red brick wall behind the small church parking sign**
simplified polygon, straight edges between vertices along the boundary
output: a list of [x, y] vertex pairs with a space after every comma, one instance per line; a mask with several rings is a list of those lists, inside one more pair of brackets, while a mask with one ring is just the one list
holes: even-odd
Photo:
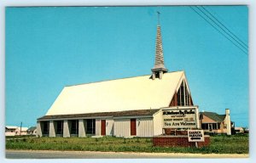
[[[210, 145], [210, 137], [205, 136], [204, 142], [198, 142], [198, 147]], [[153, 145], [160, 147], [195, 147], [195, 142], [189, 142], [188, 136], [157, 136], [153, 138]]]

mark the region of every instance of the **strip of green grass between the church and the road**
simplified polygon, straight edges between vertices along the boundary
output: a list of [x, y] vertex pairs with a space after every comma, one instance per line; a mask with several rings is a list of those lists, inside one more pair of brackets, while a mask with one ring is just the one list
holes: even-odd
[[166, 152], [248, 154], [248, 136], [214, 136], [209, 147], [154, 147], [152, 138], [21, 138], [6, 141], [6, 149], [84, 150], [114, 152]]

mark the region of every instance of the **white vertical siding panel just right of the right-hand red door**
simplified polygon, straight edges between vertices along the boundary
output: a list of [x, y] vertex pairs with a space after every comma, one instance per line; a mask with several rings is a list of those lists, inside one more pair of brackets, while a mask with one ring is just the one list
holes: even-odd
[[153, 137], [153, 118], [138, 118], [137, 137]]

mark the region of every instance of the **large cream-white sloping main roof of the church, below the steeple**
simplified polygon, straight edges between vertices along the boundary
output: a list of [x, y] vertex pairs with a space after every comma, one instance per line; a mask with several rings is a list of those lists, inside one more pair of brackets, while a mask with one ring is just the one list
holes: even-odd
[[64, 87], [46, 115], [73, 115], [168, 107], [183, 71], [165, 73], [163, 78], [137, 76], [106, 82]]

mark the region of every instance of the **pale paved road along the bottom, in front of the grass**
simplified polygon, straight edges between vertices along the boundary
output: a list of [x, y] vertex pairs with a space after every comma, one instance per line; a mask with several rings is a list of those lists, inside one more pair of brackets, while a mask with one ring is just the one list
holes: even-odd
[[138, 158], [247, 158], [248, 155], [124, 153], [90, 151], [6, 150], [7, 159], [138, 159]]

